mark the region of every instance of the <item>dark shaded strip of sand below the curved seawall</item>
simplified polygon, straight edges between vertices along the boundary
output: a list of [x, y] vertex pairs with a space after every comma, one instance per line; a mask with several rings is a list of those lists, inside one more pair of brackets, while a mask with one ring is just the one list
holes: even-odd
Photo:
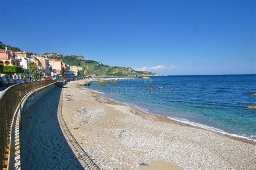
[[61, 90], [53, 88], [22, 113], [22, 169], [83, 169], [58, 123]]

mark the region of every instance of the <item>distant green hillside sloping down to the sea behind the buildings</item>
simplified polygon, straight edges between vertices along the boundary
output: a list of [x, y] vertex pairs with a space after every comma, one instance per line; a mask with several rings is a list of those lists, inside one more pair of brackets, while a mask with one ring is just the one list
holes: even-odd
[[89, 72], [90, 75], [96, 76], [134, 76], [134, 75], [156, 75], [154, 73], [143, 74], [133, 70], [131, 67], [111, 67], [101, 62], [85, 59], [82, 55], [62, 55], [60, 53], [45, 53], [49, 59], [60, 59], [70, 66], [80, 66]]

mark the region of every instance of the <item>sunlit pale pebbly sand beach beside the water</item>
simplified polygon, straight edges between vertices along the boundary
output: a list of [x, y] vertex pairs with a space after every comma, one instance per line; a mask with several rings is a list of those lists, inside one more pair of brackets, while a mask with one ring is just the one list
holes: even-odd
[[147, 114], [82, 89], [77, 82], [62, 90], [68, 128], [103, 169], [144, 168], [163, 161], [184, 169], [256, 168], [253, 142]]

